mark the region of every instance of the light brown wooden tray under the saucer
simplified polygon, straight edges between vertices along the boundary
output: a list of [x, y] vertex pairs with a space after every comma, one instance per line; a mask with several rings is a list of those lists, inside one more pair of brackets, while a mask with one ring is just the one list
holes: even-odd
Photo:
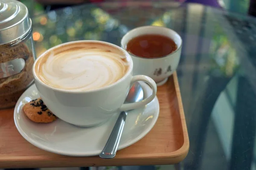
[[0, 168], [86, 167], [175, 164], [189, 150], [189, 138], [177, 74], [158, 87], [160, 115], [153, 129], [140, 141], [119, 150], [114, 159], [99, 156], [71, 157], [41, 150], [27, 142], [17, 131], [14, 109], [0, 110]]

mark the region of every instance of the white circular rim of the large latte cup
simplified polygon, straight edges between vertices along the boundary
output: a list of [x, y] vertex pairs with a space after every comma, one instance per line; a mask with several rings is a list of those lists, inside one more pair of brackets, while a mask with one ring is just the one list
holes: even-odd
[[[55, 48], [59, 48], [61, 47], [62, 45], [67, 45], [67, 44], [73, 44], [73, 43], [77, 43], [77, 42], [96, 42], [96, 43], [102, 43], [102, 44], [107, 44], [107, 45], [110, 45], [114, 48], [117, 48], [119, 50], [121, 50], [122, 52], [124, 52], [126, 58], [127, 58], [127, 61], [129, 62], [129, 69], [128, 71], [126, 72], [126, 74], [121, 78], [119, 79], [118, 81], [110, 84], [110, 85], [107, 85], [107, 86], [104, 86], [102, 88], [97, 88], [97, 89], [93, 89], [93, 90], [87, 90], [87, 91], [72, 91], [72, 90], [64, 90], [64, 89], [59, 89], [59, 88], [55, 88], [55, 87], [52, 87], [50, 85], [47, 85], [46, 83], [42, 82], [41, 79], [38, 78], [37, 74], [35, 73], [35, 64], [38, 62], [38, 60], [43, 57], [46, 53], [48, 53], [49, 51], [55, 49]], [[121, 82], [122, 80], [124, 80], [126, 77], [128, 77], [129, 74], [131, 74], [132, 72], [132, 68], [133, 68], [133, 61], [131, 59], [131, 56], [130, 54], [123, 48], [117, 46], [117, 45], [114, 45], [114, 44], [111, 44], [110, 42], [105, 42], [105, 41], [98, 41], [98, 40], [79, 40], [79, 41], [71, 41], [71, 42], [65, 42], [65, 43], [62, 43], [62, 44], [59, 44], [59, 45], [56, 45], [52, 48], [49, 48], [47, 51], [44, 51], [44, 53], [42, 53], [39, 57], [37, 57], [37, 59], [35, 60], [34, 64], [33, 64], [33, 68], [32, 68], [32, 72], [33, 72], [33, 76], [34, 76], [34, 79], [36, 79], [41, 85], [43, 85], [44, 87], [46, 88], [50, 88], [54, 91], [59, 91], [59, 92], [64, 92], [64, 93], [72, 93], [72, 94], [84, 94], [84, 93], [91, 93], [91, 92], [95, 92], [95, 91], [102, 91], [102, 90], [105, 90], [105, 89], [108, 89], [108, 88], [111, 88], [113, 87], [114, 85], [118, 84], [119, 82]]]

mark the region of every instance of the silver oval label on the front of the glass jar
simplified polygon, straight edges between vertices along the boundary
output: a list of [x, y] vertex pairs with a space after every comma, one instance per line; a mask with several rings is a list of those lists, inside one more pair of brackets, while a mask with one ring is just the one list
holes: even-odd
[[20, 73], [25, 66], [23, 58], [0, 63], [0, 79]]

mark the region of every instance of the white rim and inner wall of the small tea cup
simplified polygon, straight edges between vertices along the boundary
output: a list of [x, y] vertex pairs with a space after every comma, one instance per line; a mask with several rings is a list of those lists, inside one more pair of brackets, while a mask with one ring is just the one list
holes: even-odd
[[[175, 51], [173, 51], [172, 53], [167, 54], [167, 55], [165, 55], [165, 56], [161, 56], [161, 57], [146, 58], [146, 57], [137, 56], [137, 55], [132, 54], [132, 53], [130, 53], [129, 51], [126, 50], [126, 48], [125, 48], [124, 46], [126, 46], [127, 43], [126, 43], [126, 44], [123, 44], [123, 41], [124, 41], [124, 38], [128, 36], [128, 34], [130, 34], [131, 32], [139, 31], [139, 30], [142, 29], [142, 28], [155, 28], [155, 27], [160, 28], [160, 29], [166, 29], [166, 30], [168, 30], [168, 31], [171, 31], [171, 32], [173, 32], [174, 34], [176, 34], [177, 37], [179, 37], [179, 39], [180, 39], [180, 45], [177, 47], [177, 49], [176, 49]], [[157, 34], [157, 33], [156, 33], [156, 34]], [[139, 35], [145, 35], [145, 34], [144, 34], [144, 33], [141, 33], [141, 34], [139, 34]], [[133, 38], [133, 37], [132, 37], [132, 38]], [[131, 39], [132, 39], [132, 38], [131, 38]], [[131, 39], [130, 39], [130, 40], [131, 40]], [[128, 40], [128, 41], [129, 41], [129, 40]], [[172, 29], [170, 29], [170, 28], [161, 27], [161, 26], [141, 26], [141, 27], [137, 27], [137, 28], [134, 28], [134, 29], [128, 31], [128, 32], [122, 37], [122, 39], [121, 39], [121, 47], [122, 47], [123, 49], [125, 49], [125, 51], [127, 51], [128, 54], [130, 54], [130, 55], [132, 55], [132, 56], [134, 56], [134, 57], [138, 57], [138, 58], [141, 58], [141, 59], [160, 59], [160, 58], [172, 56], [172, 55], [175, 54], [177, 51], [179, 51], [180, 48], [182, 47], [182, 38], [180, 37], [180, 34], [178, 34], [176, 31], [174, 31], [174, 30], [172, 30]]]

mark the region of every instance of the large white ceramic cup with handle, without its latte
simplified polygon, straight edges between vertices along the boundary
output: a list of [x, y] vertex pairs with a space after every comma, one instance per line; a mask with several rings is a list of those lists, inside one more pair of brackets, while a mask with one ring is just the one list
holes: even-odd
[[[61, 46], [72, 43], [93, 42], [111, 45], [125, 53], [129, 63], [126, 74], [111, 85], [88, 91], [70, 91], [60, 88], [54, 88], [43, 82], [35, 71], [35, 65], [38, 59], [51, 53], [53, 50], [61, 48]], [[108, 42], [84, 40], [67, 42], [57, 45], [41, 54], [33, 65], [33, 75], [35, 85], [39, 95], [45, 105], [60, 119], [73, 125], [82, 127], [91, 127], [106, 122], [117, 111], [126, 111], [140, 108], [151, 102], [156, 96], [157, 86], [153, 79], [144, 75], [132, 76], [133, 61], [131, 56], [119, 46]], [[123, 104], [131, 85], [137, 81], [147, 82], [152, 88], [152, 94], [147, 99], [140, 102]]]

